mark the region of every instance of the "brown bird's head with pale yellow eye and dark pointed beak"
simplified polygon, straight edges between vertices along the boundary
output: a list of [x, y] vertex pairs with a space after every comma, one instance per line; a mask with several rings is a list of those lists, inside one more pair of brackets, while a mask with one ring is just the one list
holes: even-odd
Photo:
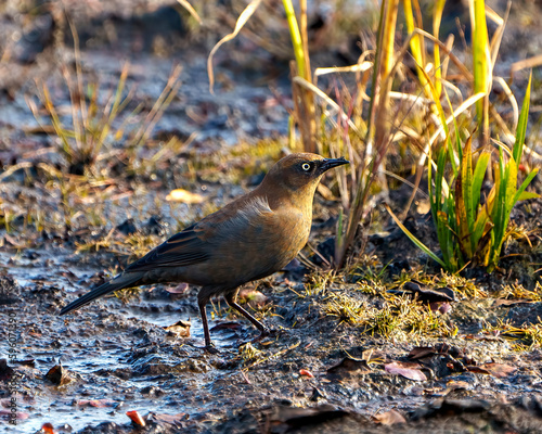
[[289, 154], [271, 167], [262, 187], [280, 189], [291, 194], [314, 194], [322, 175], [333, 167], [348, 163], [344, 157], [324, 158], [310, 153]]

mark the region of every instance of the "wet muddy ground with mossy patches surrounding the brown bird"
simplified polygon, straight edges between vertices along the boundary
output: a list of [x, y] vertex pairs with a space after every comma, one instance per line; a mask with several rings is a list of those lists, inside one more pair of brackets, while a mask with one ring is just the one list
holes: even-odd
[[[503, 64], [532, 55], [540, 40], [540, 7], [518, 3]], [[182, 86], [149, 141], [129, 156], [122, 141], [113, 143], [91, 182], [25, 100], [36, 100], [35, 79], [47, 80], [68, 116], [60, 65], [75, 58], [62, 14], [55, 3], [8, 1], [0, 10], [2, 431], [542, 432], [540, 200], [514, 212], [524, 229], [492, 275], [440, 271], [378, 206], [349, 266], [334, 273], [322, 257], [333, 254], [338, 200], [333, 190], [318, 193], [308, 260], [245, 289], [248, 308], [276, 335], [245, 345], [257, 331], [215, 301], [218, 355], [201, 349], [192, 286], [130, 290], [59, 317], [129, 260], [254, 188], [286, 149], [292, 107], [287, 56], [247, 39], [219, 52], [210, 94], [206, 55], [216, 33], [194, 31], [172, 3], [65, 4], [86, 79], [114, 89], [129, 60], [131, 108], [152, 107], [176, 63]], [[217, 26], [231, 24], [212, 16]], [[345, 49], [352, 46], [330, 43], [315, 62], [356, 60]], [[534, 119], [537, 107], [534, 100]], [[179, 144], [156, 156], [171, 138]], [[540, 180], [533, 188], [542, 192]], [[173, 189], [196, 194], [194, 203], [167, 201]], [[390, 202], [400, 208], [408, 194], [403, 186]], [[437, 250], [418, 205], [406, 226]]]

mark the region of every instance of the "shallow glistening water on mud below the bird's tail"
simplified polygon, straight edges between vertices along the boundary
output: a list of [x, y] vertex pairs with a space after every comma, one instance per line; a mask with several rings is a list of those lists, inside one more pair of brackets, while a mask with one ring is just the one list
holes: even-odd
[[[59, 317], [65, 294], [87, 290], [93, 270], [67, 266], [67, 254], [38, 254], [36, 260], [0, 253], [2, 273], [16, 281], [12, 290], [17, 303], [8, 309], [16, 312], [17, 356], [9, 366], [20, 375], [17, 411], [27, 418], [11, 432], [35, 432], [43, 423], [56, 430], [69, 424], [74, 431], [102, 422], [126, 424], [129, 410], [141, 416], [205, 412], [196, 391], [223, 372], [210, 368], [197, 348], [203, 346], [203, 327], [193, 297], [131, 297], [126, 305], [101, 299]], [[5, 324], [8, 316], [0, 318]], [[191, 337], [164, 330], [180, 320], [190, 320]], [[210, 328], [216, 324], [209, 321]], [[211, 333], [217, 347], [236, 350], [235, 332]], [[8, 354], [7, 344], [0, 343], [2, 354]], [[46, 379], [57, 365], [72, 379], [65, 385]]]

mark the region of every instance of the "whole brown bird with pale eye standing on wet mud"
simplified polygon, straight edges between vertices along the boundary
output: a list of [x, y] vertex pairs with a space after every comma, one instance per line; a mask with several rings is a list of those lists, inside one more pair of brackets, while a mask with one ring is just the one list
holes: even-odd
[[260, 331], [269, 330], [237, 303], [242, 284], [281, 270], [305, 246], [312, 221], [312, 200], [322, 175], [347, 164], [309, 153], [285, 156], [258, 188], [171, 237], [121, 275], [72, 302], [60, 315], [113, 291], [158, 282], [202, 286], [197, 303], [205, 346], [216, 352], [205, 306], [214, 295], [244, 315]]

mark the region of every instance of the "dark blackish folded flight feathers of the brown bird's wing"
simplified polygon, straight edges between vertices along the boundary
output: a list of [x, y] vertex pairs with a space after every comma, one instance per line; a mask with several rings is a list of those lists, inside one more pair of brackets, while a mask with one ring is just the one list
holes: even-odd
[[130, 264], [125, 272], [157, 267], [185, 267], [208, 259], [209, 243], [203, 239], [202, 231], [197, 224], [192, 225]]

